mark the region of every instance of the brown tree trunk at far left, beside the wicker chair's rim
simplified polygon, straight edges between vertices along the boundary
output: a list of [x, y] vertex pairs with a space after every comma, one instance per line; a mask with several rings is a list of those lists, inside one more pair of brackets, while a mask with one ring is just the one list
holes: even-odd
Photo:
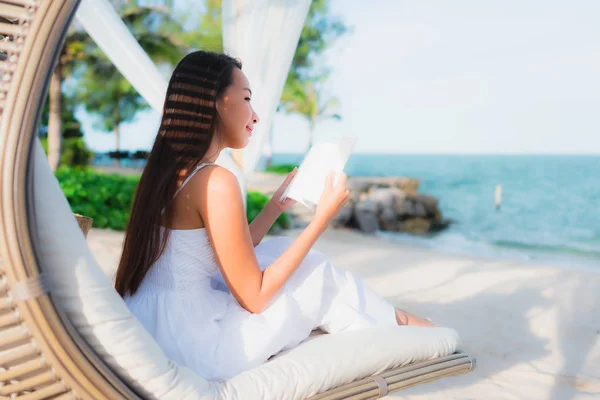
[[62, 67], [57, 64], [50, 78], [50, 114], [48, 118], [48, 163], [52, 171], [56, 170], [60, 163], [62, 151], [62, 93], [60, 83], [62, 82]]

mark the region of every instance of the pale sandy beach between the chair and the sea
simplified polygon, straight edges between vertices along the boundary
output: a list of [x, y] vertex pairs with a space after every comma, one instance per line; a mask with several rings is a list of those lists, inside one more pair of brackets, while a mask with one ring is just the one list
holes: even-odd
[[[122, 238], [88, 236], [108, 276]], [[348, 230], [327, 231], [316, 248], [394, 305], [456, 329], [460, 348], [477, 358], [468, 375], [388, 398], [600, 398], [600, 269], [449, 255]]]

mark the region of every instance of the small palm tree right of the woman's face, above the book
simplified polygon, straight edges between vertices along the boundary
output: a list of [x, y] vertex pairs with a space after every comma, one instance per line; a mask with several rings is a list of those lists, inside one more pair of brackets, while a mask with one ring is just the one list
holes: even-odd
[[338, 98], [325, 97], [323, 87], [319, 81], [297, 80], [292, 87], [284, 91], [281, 99], [282, 103], [286, 104], [286, 112], [300, 114], [308, 121], [308, 149], [313, 145], [315, 128], [318, 122], [326, 119], [341, 119], [341, 116], [337, 113], [339, 109]]

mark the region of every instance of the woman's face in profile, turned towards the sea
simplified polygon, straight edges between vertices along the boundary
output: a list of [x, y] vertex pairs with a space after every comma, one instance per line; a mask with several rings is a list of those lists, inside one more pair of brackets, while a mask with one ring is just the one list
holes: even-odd
[[232, 78], [231, 85], [217, 99], [218, 133], [225, 147], [241, 149], [248, 145], [258, 115], [250, 104], [252, 91], [246, 75], [234, 68]]

